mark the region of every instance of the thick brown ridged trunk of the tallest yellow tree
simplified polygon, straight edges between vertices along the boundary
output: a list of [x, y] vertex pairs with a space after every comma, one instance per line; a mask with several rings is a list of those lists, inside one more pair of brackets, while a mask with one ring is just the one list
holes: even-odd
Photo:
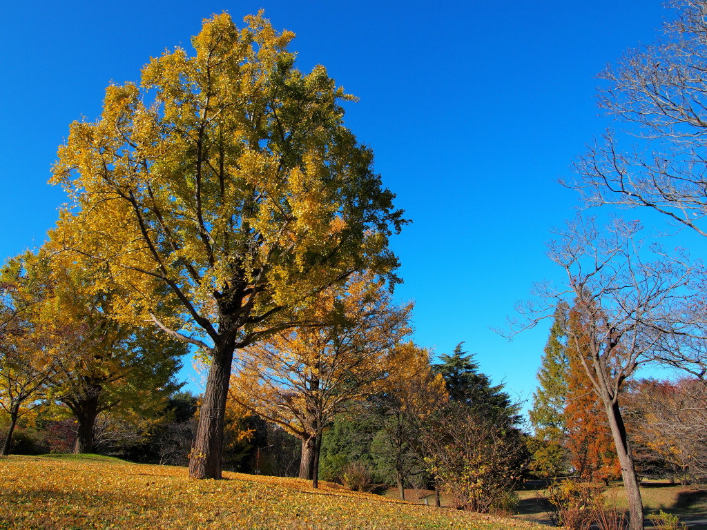
[[199, 408], [197, 437], [189, 454], [189, 476], [192, 478], [221, 478], [223, 423], [233, 351], [233, 346], [218, 346], [212, 351], [209, 376]]

